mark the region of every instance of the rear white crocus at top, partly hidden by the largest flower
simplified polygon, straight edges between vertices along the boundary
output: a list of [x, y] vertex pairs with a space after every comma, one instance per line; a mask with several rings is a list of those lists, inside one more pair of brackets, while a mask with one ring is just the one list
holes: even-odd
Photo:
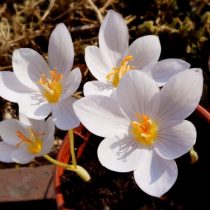
[[[159, 86], [190, 65], [180, 59], [165, 59], [157, 63], [161, 46], [157, 36], [147, 35], [128, 45], [128, 28], [123, 18], [109, 10], [99, 31], [99, 47], [85, 49], [85, 61], [97, 79], [84, 85], [84, 95], [111, 95], [119, 81], [133, 69], [148, 73]], [[172, 69], [173, 68], [173, 69]]]

